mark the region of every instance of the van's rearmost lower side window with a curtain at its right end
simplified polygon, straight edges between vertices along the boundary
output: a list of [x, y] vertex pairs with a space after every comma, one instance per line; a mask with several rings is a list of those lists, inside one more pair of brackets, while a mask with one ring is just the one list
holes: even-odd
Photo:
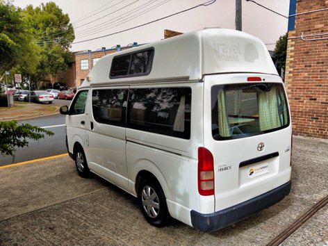
[[190, 138], [191, 88], [142, 88], [129, 92], [127, 126]]

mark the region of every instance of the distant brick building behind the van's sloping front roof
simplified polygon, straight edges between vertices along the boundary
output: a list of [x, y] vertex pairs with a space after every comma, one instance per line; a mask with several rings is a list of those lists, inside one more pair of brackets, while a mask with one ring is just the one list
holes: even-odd
[[[97, 63], [97, 61], [102, 57], [106, 56], [108, 54], [121, 51], [124, 49], [129, 49], [132, 47], [140, 46], [141, 44], [138, 44], [134, 42], [133, 44], [130, 44], [126, 47], [120, 47], [120, 45], [117, 45], [114, 48], [106, 49], [105, 47], [102, 47], [101, 49], [97, 49], [96, 51], [82, 51], [75, 54], [75, 60], [76, 60], [76, 87], [79, 87], [85, 77], [90, 72], [90, 69]], [[108, 74], [109, 76], [109, 74]]]

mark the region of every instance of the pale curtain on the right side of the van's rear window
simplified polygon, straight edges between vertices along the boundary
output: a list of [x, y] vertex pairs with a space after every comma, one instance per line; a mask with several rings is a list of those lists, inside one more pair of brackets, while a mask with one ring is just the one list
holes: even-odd
[[259, 92], [259, 122], [261, 131], [274, 129], [281, 126], [279, 119], [279, 97], [277, 88], [268, 92]]

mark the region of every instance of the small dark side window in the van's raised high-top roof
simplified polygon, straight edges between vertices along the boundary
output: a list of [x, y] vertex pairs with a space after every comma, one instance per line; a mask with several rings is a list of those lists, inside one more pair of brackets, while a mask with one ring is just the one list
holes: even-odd
[[113, 58], [110, 78], [147, 75], [151, 71], [154, 49], [146, 49]]

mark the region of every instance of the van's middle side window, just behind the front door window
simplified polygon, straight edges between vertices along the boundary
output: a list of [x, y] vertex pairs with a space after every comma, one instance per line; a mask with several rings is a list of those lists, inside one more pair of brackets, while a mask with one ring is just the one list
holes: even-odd
[[92, 113], [99, 123], [125, 126], [128, 89], [92, 90]]

